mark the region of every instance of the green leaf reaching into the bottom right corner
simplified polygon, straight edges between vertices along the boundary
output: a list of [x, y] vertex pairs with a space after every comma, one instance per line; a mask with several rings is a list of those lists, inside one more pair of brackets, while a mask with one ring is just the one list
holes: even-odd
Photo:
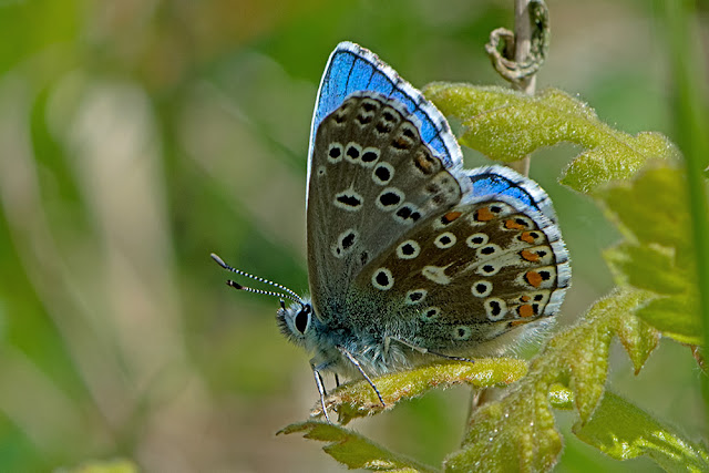
[[588, 422], [574, 426], [574, 433], [617, 460], [648, 455], [669, 472], [709, 471], [709, 452], [703, 445], [689, 442], [610, 392]]

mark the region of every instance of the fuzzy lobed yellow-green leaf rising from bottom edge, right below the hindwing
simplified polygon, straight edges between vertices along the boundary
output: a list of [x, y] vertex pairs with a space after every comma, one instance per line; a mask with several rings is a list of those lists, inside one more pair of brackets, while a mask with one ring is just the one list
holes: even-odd
[[627, 319], [635, 319], [633, 312], [650, 297], [647, 291], [618, 290], [549, 340], [507, 395], [472, 413], [462, 449], [446, 459], [448, 470], [549, 470], [562, 451], [552, 405], [567, 409], [573, 398], [580, 421], [592, 418], [604, 392], [610, 339], [619, 329], [630, 340], [631, 358], [647, 358], [657, 333]]

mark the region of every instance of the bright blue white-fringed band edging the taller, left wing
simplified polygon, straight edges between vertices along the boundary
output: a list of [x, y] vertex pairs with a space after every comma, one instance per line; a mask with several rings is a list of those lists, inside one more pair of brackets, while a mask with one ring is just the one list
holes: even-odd
[[310, 154], [322, 120], [350, 94], [359, 91], [372, 91], [399, 101], [415, 117], [413, 121], [418, 122], [422, 141], [443, 165], [449, 168], [462, 166], [460, 146], [441, 112], [377, 54], [348, 41], [339, 43], [332, 51], [322, 74], [310, 128]]

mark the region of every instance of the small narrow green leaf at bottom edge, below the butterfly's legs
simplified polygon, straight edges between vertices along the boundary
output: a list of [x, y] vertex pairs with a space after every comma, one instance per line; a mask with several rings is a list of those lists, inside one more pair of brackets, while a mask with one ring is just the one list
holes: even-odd
[[306, 439], [328, 442], [322, 448], [330, 456], [349, 469], [384, 472], [435, 472], [407, 456], [394, 454], [369, 439], [339, 425], [307, 421], [290, 424], [278, 434], [305, 432]]

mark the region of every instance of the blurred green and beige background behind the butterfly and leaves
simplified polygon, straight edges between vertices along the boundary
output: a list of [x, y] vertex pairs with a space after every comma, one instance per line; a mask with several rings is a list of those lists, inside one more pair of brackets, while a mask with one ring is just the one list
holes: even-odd
[[[540, 88], [672, 137], [654, 6], [549, 1]], [[208, 255], [307, 289], [308, 133], [339, 41], [418, 86], [500, 84], [483, 45], [512, 21], [502, 0], [0, 1], [0, 471], [112, 457], [148, 472], [340, 471], [320, 445], [274, 435], [317, 400], [308, 356], [279, 335], [277, 301], [228, 289]], [[618, 238], [556, 184], [577, 152], [540, 152], [531, 173], [573, 258], [562, 326], [613, 286], [600, 251]], [[609, 385], [698, 439], [699, 376], [665, 340], [638, 377], [616, 346]], [[436, 392], [353, 426], [439, 464], [467, 395]], [[568, 434], [574, 417], [558, 420]], [[655, 466], [610, 462], [568, 434], [557, 471], [600, 469]]]

